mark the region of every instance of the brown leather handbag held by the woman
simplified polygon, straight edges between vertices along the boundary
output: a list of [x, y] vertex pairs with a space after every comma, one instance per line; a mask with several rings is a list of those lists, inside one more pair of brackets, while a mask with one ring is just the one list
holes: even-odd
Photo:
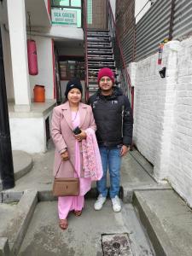
[[[71, 161], [70, 163], [73, 166], [73, 163]], [[58, 168], [58, 171], [56, 172], [56, 175], [59, 172], [60, 166]], [[73, 170], [74, 172], [76, 172], [74, 166]], [[53, 183], [54, 196], [79, 195], [79, 177], [56, 177], [56, 175]]]

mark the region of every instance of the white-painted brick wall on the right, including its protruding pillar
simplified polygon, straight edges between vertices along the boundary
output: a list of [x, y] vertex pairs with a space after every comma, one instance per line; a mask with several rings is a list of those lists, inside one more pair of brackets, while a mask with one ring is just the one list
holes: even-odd
[[[165, 45], [158, 55], [131, 65], [135, 86], [134, 142], [154, 165], [154, 177], [192, 207], [192, 38]], [[166, 78], [159, 70], [166, 67]]]

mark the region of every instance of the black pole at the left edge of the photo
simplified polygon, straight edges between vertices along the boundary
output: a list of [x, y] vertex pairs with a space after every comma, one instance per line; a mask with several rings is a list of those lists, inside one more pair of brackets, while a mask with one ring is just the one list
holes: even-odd
[[3, 189], [15, 187], [14, 165], [11, 149], [8, 102], [3, 64], [3, 44], [0, 27], [0, 174]]

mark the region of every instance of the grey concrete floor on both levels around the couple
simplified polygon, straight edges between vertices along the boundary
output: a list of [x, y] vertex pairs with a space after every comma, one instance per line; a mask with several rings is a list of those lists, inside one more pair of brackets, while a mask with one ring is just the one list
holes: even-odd
[[[16, 181], [14, 189], [9, 192], [38, 190], [49, 191], [51, 194], [53, 182], [53, 163], [55, 148], [50, 143], [45, 154], [32, 154], [32, 170]], [[127, 154], [122, 162], [121, 184], [125, 192], [133, 189], [166, 188], [154, 182], [148, 172], [131, 154]], [[96, 187], [96, 183], [92, 183]], [[26, 192], [25, 192], [26, 193]], [[127, 232], [131, 240], [132, 254], [135, 256], [154, 255], [148, 236], [143, 231], [139, 218], [131, 204], [122, 203], [122, 211], [114, 213], [108, 200], [102, 211], [93, 209], [93, 199], [86, 199], [86, 206], [80, 218], [69, 215], [69, 227], [66, 231], [58, 227], [56, 201], [40, 201], [35, 209], [25, 239], [20, 247], [22, 256], [49, 255], [102, 255], [102, 234]], [[6, 230], [11, 221], [15, 222], [15, 206], [6, 206], [0, 226]], [[0, 205], [0, 212], [3, 204]], [[5, 208], [4, 208], [5, 209]], [[17, 209], [19, 212], [20, 210]], [[6, 211], [8, 214], [6, 214]], [[2, 216], [2, 214], [1, 214]], [[0, 230], [2, 231], [2, 230]], [[11, 235], [11, 234], [10, 234]], [[11, 239], [10, 239], [11, 240]]]

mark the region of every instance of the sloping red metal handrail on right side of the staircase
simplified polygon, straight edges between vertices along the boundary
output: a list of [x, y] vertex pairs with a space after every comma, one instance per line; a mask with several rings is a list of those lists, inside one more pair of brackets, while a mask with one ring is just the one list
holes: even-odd
[[123, 50], [119, 40], [119, 33], [117, 30], [117, 26], [113, 17], [113, 11], [111, 8], [111, 3], [108, 0], [108, 30], [111, 35], [112, 44], [113, 44], [113, 54], [115, 57], [115, 61], [118, 61], [119, 71], [120, 71], [120, 81], [121, 88], [124, 90], [125, 95], [127, 95], [131, 102], [131, 108], [133, 111], [134, 107], [134, 87], [131, 85], [130, 75], [127, 71], [127, 67], [125, 66], [125, 59]]

